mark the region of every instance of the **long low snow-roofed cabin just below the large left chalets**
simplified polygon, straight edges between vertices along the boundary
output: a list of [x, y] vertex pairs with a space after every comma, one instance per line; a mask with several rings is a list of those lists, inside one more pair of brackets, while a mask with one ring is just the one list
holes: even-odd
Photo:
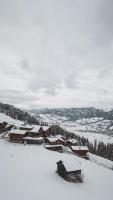
[[24, 137], [23, 138], [25, 144], [42, 144], [43, 143], [43, 137]]

